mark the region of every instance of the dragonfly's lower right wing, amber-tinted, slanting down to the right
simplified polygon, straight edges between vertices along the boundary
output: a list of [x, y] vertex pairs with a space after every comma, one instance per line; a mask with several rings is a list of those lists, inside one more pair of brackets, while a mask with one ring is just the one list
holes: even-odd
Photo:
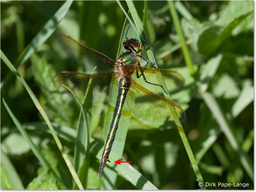
[[133, 114], [152, 122], [183, 122], [185, 111], [176, 103], [152, 93], [132, 80], [127, 104]]

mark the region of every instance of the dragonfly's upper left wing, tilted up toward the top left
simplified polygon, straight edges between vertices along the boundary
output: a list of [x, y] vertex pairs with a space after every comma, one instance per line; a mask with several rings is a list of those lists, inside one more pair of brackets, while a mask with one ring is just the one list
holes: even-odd
[[[91, 48], [74, 40], [66, 34], [59, 34], [57, 40], [60, 47], [78, 66], [89, 71], [111, 72], [114, 70], [114, 61]], [[96, 68], [95, 68], [96, 67]]]

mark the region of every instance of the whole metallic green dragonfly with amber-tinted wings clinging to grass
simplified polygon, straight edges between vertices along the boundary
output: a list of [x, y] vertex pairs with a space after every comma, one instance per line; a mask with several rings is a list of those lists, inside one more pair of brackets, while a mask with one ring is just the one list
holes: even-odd
[[[115, 61], [91, 48], [84, 46], [66, 34], [59, 34], [57, 40], [63, 51], [78, 66], [96, 73], [85, 74], [62, 71], [52, 78], [52, 83], [61, 92], [91, 103], [103, 103], [116, 99], [116, 107], [108, 137], [100, 160], [99, 177], [103, 174], [112, 145], [115, 140], [124, 101], [137, 117], [151, 122], [179, 123], [186, 120], [185, 111], [172, 100], [156, 93], [169, 92], [181, 87], [185, 80], [174, 70], [147, 68], [154, 62], [138, 55], [146, 42], [144, 30], [143, 41], [129, 39], [127, 33], [123, 41], [126, 50]], [[140, 59], [147, 62], [146, 67], [140, 65]], [[163, 83], [165, 86], [163, 86]]]

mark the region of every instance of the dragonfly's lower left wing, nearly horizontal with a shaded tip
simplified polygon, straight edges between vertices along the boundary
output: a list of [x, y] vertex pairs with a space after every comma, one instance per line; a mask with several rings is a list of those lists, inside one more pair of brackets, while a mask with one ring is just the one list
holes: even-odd
[[52, 78], [52, 83], [58, 90], [91, 103], [107, 102], [115, 99], [118, 94], [117, 77], [114, 72], [88, 75], [63, 71]]

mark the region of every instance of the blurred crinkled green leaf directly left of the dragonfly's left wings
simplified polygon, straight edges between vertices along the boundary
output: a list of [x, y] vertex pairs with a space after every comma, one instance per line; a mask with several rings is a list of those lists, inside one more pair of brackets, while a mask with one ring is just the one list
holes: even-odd
[[52, 84], [52, 77], [56, 75], [52, 65], [36, 54], [31, 56], [31, 63], [35, 81], [42, 91], [41, 100], [44, 99], [42, 103], [47, 115], [58, 124], [74, 126], [78, 116], [77, 105], [71, 96], [59, 92]]

